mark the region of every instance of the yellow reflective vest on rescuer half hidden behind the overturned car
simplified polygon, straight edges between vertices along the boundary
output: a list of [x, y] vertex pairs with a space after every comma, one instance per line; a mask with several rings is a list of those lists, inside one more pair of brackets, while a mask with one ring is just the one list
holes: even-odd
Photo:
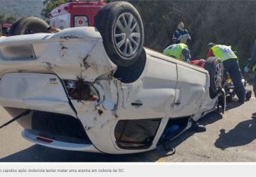
[[182, 60], [181, 51], [184, 48], [188, 48], [188, 45], [183, 43], [170, 45], [164, 50], [164, 54], [169, 55], [171, 57], [175, 57], [176, 59]]

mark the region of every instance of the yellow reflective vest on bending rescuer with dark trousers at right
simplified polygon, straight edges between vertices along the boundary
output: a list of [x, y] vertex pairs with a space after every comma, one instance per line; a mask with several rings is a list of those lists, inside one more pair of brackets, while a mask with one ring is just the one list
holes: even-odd
[[236, 58], [238, 59], [238, 56], [235, 55], [233, 50], [231, 50], [231, 46], [227, 45], [214, 45], [210, 48], [213, 51], [213, 55], [215, 57], [219, 57], [222, 62], [225, 60]]

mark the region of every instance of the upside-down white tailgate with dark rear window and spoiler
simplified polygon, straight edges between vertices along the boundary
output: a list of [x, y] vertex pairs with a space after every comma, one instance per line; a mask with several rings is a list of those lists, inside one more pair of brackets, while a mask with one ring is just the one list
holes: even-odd
[[77, 118], [62, 81], [54, 74], [10, 73], [0, 81], [0, 104], [25, 129], [22, 136], [46, 147], [99, 152]]

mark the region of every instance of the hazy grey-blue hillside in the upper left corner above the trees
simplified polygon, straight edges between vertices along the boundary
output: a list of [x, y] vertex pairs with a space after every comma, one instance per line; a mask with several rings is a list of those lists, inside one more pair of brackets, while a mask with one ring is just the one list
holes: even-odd
[[0, 14], [16, 16], [41, 17], [43, 2], [41, 0], [0, 0]]

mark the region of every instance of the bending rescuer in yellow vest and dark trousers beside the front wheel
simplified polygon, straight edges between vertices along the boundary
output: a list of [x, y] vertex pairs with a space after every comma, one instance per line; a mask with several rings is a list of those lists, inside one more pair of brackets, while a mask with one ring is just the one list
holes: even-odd
[[245, 86], [242, 84], [242, 74], [238, 63], [238, 57], [227, 45], [215, 45], [213, 42], [207, 45], [207, 57], [219, 57], [223, 62], [224, 78], [228, 78], [228, 74], [235, 87], [235, 93], [240, 103], [245, 102]]

